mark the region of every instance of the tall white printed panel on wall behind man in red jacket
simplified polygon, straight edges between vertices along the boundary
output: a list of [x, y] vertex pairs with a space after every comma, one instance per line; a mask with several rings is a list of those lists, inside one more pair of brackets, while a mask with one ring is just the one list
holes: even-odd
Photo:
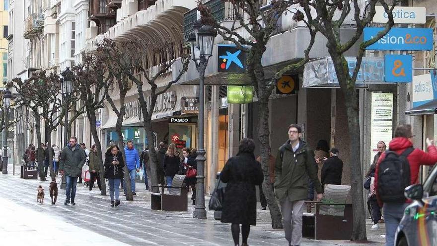
[[[372, 92], [370, 116], [370, 164], [378, 153], [377, 144], [384, 141], [388, 147], [393, 138], [393, 94]], [[369, 165], [370, 165], [369, 164]]]

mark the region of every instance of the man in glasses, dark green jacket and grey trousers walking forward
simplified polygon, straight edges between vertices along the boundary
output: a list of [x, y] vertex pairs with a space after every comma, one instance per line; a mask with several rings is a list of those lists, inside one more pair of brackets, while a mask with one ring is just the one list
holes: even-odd
[[[303, 205], [307, 198], [308, 176], [322, 199], [322, 185], [317, 177], [314, 152], [302, 141], [302, 128], [289, 126], [289, 140], [281, 146], [275, 164], [275, 194], [281, 202], [285, 237], [290, 246], [300, 245], [302, 240]], [[291, 213], [292, 212], [292, 213]]]

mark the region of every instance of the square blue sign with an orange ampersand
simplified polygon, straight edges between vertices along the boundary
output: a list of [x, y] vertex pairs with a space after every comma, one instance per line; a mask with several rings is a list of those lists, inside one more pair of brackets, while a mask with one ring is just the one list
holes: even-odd
[[411, 82], [413, 57], [411, 55], [385, 55], [385, 82]]

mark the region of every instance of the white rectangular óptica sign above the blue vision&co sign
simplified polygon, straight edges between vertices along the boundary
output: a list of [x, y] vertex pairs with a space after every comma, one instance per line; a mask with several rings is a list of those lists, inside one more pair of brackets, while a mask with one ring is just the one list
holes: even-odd
[[[388, 14], [383, 6], [375, 6], [373, 23], [387, 23]], [[426, 7], [394, 7], [393, 21], [395, 24], [425, 24], [427, 17]]]

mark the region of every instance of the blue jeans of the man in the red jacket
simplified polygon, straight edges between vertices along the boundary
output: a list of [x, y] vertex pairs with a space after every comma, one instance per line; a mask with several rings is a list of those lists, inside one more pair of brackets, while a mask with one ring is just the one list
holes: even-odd
[[385, 222], [385, 246], [394, 246], [394, 236], [407, 205], [406, 203], [384, 203], [382, 210]]

